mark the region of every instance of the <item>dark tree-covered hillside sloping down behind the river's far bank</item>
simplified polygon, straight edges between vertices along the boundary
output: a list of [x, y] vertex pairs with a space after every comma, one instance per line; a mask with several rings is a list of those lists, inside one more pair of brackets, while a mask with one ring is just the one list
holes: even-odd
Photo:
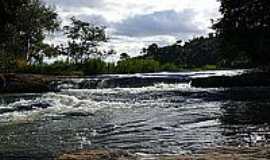
[[184, 45], [182, 41], [165, 47], [150, 45], [142, 59], [154, 59], [164, 65], [165, 70], [179, 70], [179, 68], [203, 67], [219, 62], [219, 39], [214, 35], [194, 38]]

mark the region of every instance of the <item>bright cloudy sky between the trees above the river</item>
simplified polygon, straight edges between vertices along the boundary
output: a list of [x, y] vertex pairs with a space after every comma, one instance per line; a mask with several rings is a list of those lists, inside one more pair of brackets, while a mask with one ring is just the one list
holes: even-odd
[[[152, 43], [170, 45], [207, 35], [218, 18], [217, 0], [43, 0], [54, 7], [63, 25], [69, 18], [105, 25], [110, 38], [104, 46], [118, 53], [140, 54]], [[61, 41], [55, 36], [49, 41]]]

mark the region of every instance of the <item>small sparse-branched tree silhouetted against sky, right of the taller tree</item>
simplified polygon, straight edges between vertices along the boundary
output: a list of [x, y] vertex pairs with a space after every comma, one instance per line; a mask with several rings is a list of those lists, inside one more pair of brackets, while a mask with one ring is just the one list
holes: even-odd
[[83, 22], [75, 17], [71, 18], [71, 26], [65, 26], [64, 31], [68, 38], [66, 55], [72, 57], [76, 64], [83, 63], [91, 54], [98, 53], [99, 43], [107, 41], [104, 26]]

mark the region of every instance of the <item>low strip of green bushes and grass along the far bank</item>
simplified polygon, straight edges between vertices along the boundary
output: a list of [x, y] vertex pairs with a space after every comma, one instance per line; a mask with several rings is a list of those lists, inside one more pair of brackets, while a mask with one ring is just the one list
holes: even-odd
[[[153, 59], [131, 58], [119, 61], [117, 65], [106, 63], [101, 59], [89, 59], [83, 64], [69, 64], [57, 61], [53, 64], [21, 65], [17, 69], [20, 73], [49, 74], [49, 75], [96, 75], [96, 74], [132, 74], [132, 73], [152, 73], [152, 72], [179, 72], [185, 68], [173, 63], [160, 64]], [[213, 70], [216, 65], [206, 65], [193, 70]]]

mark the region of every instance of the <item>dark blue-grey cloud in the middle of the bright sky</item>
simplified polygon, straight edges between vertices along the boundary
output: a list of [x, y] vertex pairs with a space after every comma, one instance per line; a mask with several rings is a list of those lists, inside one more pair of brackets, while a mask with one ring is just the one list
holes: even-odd
[[195, 15], [190, 9], [160, 11], [129, 17], [114, 27], [117, 34], [135, 37], [202, 33], [194, 22]]

